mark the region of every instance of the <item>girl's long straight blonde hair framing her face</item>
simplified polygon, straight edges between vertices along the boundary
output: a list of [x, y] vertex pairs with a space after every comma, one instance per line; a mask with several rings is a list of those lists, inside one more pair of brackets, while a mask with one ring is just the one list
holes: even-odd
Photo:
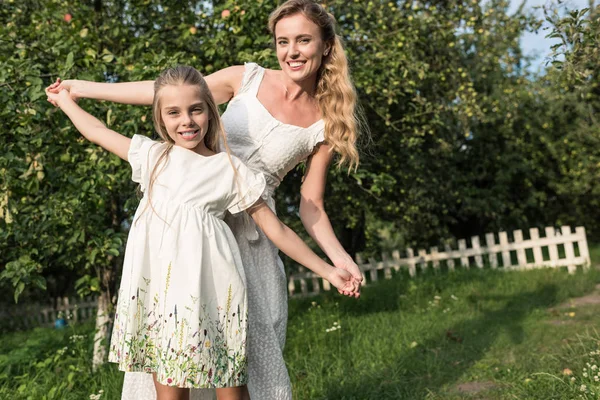
[[[206, 135], [204, 136], [204, 144], [209, 150], [214, 151], [216, 153], [218, 152], [219, 141], [222, 141], [223, 150], [227, 153], [229, 161], [232, 163], [233, 166], [229, 146], [227, 146], [227, 137], [225, 136], [225, 129], [223, 128], [221, 117], [219, 116], [219, 109], [217, 107], [217, 103], [215, 102], [215, 99], [212, 93], [210, 92], [208, 84], [206, 83], [206, 80], [204, 79], [202, 74], [197, 69], [185, 65], [179, 65], [174, 68], [167, 68], [166, 70], [161, 72], [156, 81], [154, 81], [152, 120], [154, 122], [154, 129], [156, 130], [156, 133], [158, 133], [158, 136], [162, 139], [165, 145], [163, 151], [158, 157], [156, 165], [150, 173], [150, 183], [148, 184], [147, 189], [148, 202], [146, 204], [146, 207], [144, 208], [144, 211], [146, 210], [148, 205], [152, 208], [153, 211], [155, 211], [151, 201], [152, 187], [156, 182], [156, 178], [166, 165], [169, 159], [169, 153], [175, 145], [175, 142], [167, 132], [167, 128], [165, 127], [165, 123], [160, 112], [161, 89], [163, 89], [165, 86], [171, 85], [188, 85], [198, 89], [198, 94], [200, 95], [200, 98], [204, 101], [204, 104], [206, 105], [206, 108], [208, 110], [208, 130], [206, 132]], [[236, 171], [235, 168], [234, 171]]]

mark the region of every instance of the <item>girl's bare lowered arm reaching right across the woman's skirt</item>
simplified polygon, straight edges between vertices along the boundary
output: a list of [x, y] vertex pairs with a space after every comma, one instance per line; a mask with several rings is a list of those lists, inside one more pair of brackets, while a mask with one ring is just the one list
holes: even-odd
[[281, 251], [320, 277], [327, 279], [338, 291], [358, 297], [358, 284], [348, 271], [334, 268], [317, 256], [262, 200], [248, 211], [254, 222]]

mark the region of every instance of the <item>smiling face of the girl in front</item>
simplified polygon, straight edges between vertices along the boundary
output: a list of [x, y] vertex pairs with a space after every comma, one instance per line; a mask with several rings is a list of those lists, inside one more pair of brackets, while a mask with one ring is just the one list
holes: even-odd
[[160, 114], [167, 133], [176, 146], [198, 154], [210, 153], [204, 143], [210, 116], [197, 87], [163, 87], [160, 91]]

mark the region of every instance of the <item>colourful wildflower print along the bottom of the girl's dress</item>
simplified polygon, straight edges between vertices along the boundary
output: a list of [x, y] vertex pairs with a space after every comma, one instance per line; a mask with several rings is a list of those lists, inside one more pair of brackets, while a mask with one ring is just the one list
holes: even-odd
[[169, 386], [247, 384], [245, 304], [237, 304], [229, 285], [225, 307], [189, 296], [185, 304], [173, 304], [161, 314], [165, 300], [158, 293], [169, 295], [165, 287], [170, 273], [171, 264], [164, 286], [155, 293], [150, 293], [150, 279], [144, 279], [146, 287], [134, 300], [119, 296], [109, 361], [122, 371], [155, 372], [157, 380]]

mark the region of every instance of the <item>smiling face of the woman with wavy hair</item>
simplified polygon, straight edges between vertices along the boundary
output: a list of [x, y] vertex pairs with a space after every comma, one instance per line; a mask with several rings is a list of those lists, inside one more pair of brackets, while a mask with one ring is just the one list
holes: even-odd
[[281, 70], [294, 82], [316, 77], [330, 48], [321, 39], [321, 28], [302, 14], [277, 22], [275, 45]]

